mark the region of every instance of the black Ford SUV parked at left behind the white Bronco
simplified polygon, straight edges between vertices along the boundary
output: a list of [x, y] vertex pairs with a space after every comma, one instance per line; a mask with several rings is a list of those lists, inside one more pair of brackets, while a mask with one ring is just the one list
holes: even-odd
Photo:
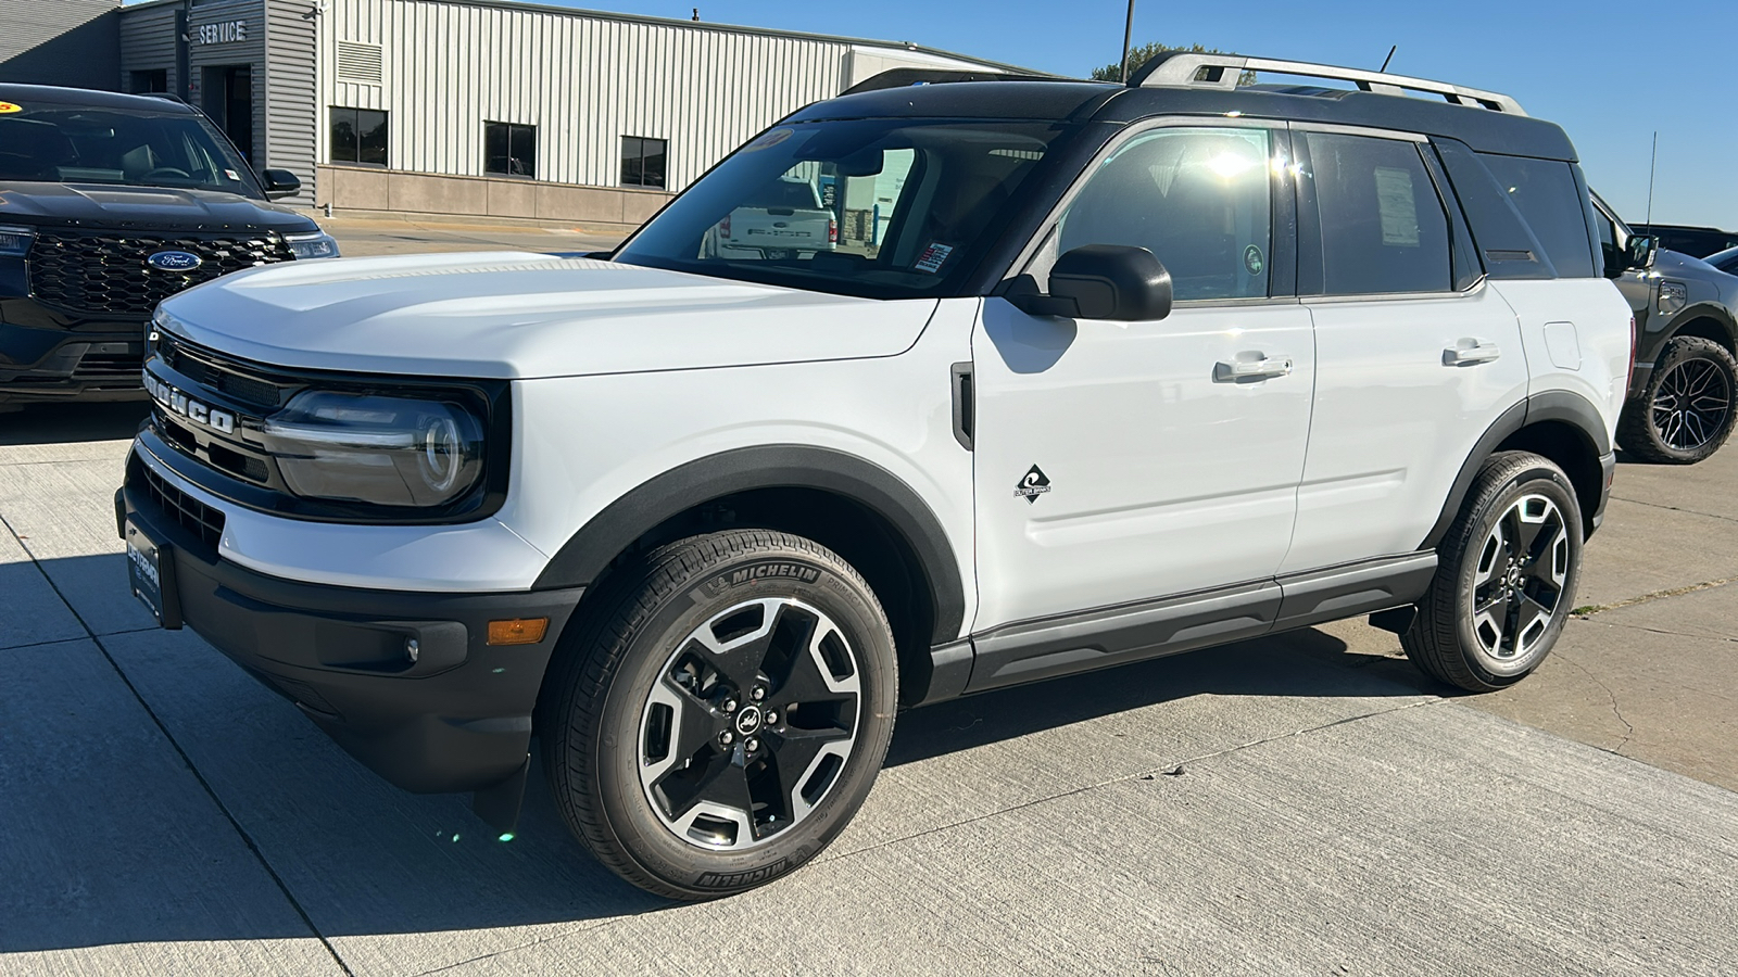
[[301, 189], [255, 176], [196, 110], [0, 85], [0, 405], [130, 400], [162, 299], [228, 271], [337, 257]]

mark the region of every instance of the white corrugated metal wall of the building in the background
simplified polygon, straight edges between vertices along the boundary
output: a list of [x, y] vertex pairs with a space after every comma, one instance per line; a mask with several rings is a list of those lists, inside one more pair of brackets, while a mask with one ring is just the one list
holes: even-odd
[[[379, 85], [337, 78], [341, 40], [381, 45]], [[514, 122], [537, 127], [541, 181], [619, 186], [620, 137], [647, 136], [669, 143], [667, 188], [680, 189], [754, 132], [848, 87], [852, 50], [841, 38], [579, 10], [330, 0], [318, 158], [330, 158], [330, 106], [370, 108], [391, 113], [395, 170], [483, 176], [483, 123]]]

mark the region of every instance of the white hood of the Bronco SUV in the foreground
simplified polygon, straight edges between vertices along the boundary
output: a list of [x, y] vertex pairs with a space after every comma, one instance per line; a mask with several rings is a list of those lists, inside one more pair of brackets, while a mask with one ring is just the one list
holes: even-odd
[[162, 308], [172, 332], [268, 365], [534, 379], [892, 356], [935, 304], [483, 252], [275, 264]]

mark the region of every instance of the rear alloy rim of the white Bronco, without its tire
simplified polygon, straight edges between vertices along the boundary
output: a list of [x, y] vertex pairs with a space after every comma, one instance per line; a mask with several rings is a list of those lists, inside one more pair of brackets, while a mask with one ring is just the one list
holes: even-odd
[[1498, 669], [1524, 662], [1550, 631], [1569, 575], [1569, 527], [1545, 495], [1516, 499], [1491, 525], [1472, 577], [1472, 635]]

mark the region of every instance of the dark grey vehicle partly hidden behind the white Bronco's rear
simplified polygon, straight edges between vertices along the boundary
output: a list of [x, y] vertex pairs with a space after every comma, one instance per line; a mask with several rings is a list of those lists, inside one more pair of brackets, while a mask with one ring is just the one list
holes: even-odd
[[1738, 276], [1675, 250], [1629, 271], [1635, 231], [1599, 195], [1594, 209], [1606, 275], [1635, 309], [1635, 369], [1618, 445], [1644, 461], [1698, 462], [1726, 443], [1738, 421]]

